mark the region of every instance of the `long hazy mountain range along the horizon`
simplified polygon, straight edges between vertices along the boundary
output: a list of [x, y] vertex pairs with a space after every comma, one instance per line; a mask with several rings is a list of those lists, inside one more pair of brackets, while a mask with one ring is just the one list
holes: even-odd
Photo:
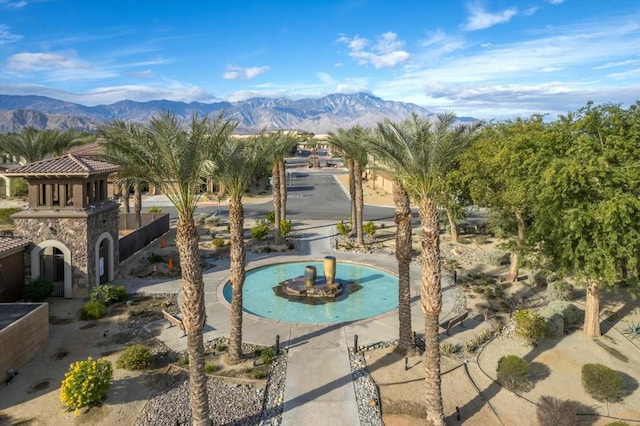
[[[0, 94], [0, 133], [36, 129], [93, 131], [103, 122], [114, 119], [147, 122], [161, 111], [171, 111], [188, 123], [191, 116], [218, 114], [224, 111], [239, 121], [237, 133], [256, 133], [261, 129], [293, 129], [316, 134], [350, 128], [372, 127], [388, 118], [401, 121], [409, 114], [424, 117], [435, 114], [410, 103], [386, 101], [368, 93], [331, 94], [321, 98], [251, 98], [238, 102], [175, 102], [168, 100], [120, 101], [110, 105], [86, 106], [44, 96]], [[458, 117], [460, 122], [476, 121]]]

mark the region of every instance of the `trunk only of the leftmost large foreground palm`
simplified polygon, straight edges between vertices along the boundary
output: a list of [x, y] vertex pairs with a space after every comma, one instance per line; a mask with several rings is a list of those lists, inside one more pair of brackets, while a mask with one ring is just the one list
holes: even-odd
[[194, 425], [211, 425], [207, 376], [204, 371], [202, 329], [206, 321], [204, 282], [198, 251], [198, 230], [193, 217], [180, 218], [176, 245], [182, 272], [182, 321], [187, 333], [189, 355], [189, 401]]

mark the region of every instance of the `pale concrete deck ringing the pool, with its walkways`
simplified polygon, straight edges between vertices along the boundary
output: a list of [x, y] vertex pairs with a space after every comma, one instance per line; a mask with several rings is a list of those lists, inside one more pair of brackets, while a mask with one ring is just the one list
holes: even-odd
[[[300, 236], [297, 250], [287, 253], [247, 253], [247, 269], [283, 261], [321, 260], [324, 256], [332, 255], [338, 261], [364, 263], [397, 271], [396, 258], [390, 253], [334, 251], [331, 247], [335, 234], [334, 222], [304, 221], [296, 225], [296, 231]], [[419, 304], [420, 275], [420, 265], [412, 262], [411, 321], [418, 335], [424, 332], [424, 316]], [[222, 297], [222, 286], [229, 280], [228, 257], [205, 271], [203, 278], [207, 312], [204, 339], [209, 341], [228, 337], [230, 309]], [[125, 285], [129, 293], [180, 292], [180, 280], [118, 281], [114, 284]], [[441, 320], [453, 315], [455, 292], [452, 284], [451, 277], [443, 275]], [[186, 350], [187, 339], [177, 327], [152, 326], [154, 334], [167, 346], [175, 351]], [[398, 328], [397, 309], [376, 317], [337, 324], [294, 324], [244, 315], [242, 339], [248, 343], [274, 345], [276, 336], [279, 336], [280, 346], [289, 349], [283, 425], [359, 424], [348, 347], [353, 346], [355, 336], [358, 346], [397, 339]]]

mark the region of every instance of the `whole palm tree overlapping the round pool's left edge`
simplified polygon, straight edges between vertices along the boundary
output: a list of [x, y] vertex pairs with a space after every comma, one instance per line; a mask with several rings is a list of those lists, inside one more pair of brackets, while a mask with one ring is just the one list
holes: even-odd
[[242, 196], [255, 172], [265, 162], [269, 136], [264, 132], [250, 139], [231, 138], [221, 148], [215, 176], [229, 195], [229, 233], [231, 236], [231, 329], [229, 362], [242, 359], [242, 287], [245, 279], [244, 207]]

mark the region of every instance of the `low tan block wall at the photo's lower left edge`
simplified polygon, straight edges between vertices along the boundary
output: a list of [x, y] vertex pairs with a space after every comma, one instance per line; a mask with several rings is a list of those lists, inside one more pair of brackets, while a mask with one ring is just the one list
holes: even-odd
[[9, 368], [18, 371], [49, 343], [48, 303], [0, 304], [0, 312], [12, 317], [5, 307], [12, 311], [23, 308], [26, 314], [0, 329], [0, 374]]

